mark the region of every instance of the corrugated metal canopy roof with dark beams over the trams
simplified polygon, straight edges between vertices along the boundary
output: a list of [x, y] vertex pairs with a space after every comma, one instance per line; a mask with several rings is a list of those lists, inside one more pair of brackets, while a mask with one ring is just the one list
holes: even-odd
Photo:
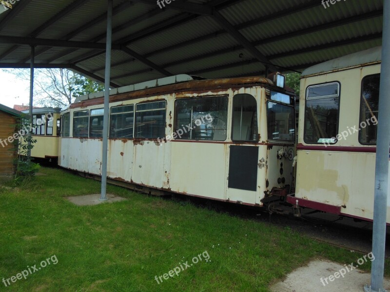
[[[114, 0], [112, 87], [181, 73], [301, 71], [382, 44], [383, 0], [327, 8], [321, 0], [164, 4]], [[106, 9], [105, 0], [19, 0], [0, 14], [0, 68], [29, 68], [36, 45], [36, 68], [69, 68], [104, 81]]]

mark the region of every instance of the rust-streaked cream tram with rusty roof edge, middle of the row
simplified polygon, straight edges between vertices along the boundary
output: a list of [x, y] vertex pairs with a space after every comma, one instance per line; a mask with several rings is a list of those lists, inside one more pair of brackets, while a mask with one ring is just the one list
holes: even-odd
[[[286, 196], [294, 94], [284, 76], [176, 75], [110, 91], [109, 182], [239, 204]], [[101, 175], [103, 93], [61, 111], [59, 165]]]

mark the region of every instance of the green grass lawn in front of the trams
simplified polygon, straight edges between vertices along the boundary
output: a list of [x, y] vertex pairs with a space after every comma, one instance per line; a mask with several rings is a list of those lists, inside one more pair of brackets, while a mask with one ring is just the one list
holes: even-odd
[[[344, 264], [361, 256], [289, 228], [113, 185], [108, 192], [129, 200], [79, 207], [64, 197], [99, 193], [99, 182], [41, 172], [47, 175], [21, 189], [0, 188], [0, 280], [51, 256], [58, 263], [8, 287], [0, 282], [0, 291], [268, 291], [312, 258]], [[201, 256], [177, 276], [155, 280], [205, 251], [208, 261]]]

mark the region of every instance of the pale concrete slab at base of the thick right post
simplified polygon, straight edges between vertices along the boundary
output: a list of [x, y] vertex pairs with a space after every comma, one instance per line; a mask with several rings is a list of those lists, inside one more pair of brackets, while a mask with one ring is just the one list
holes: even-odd
[[[357, 263], [353, 263], [356, 267]], [[349, 265], [347, 264], [347, 267]], [[284, 281], [278, 282], [270, 287], [271, 292], [363, 292], [363, 287], [370, 284], [370, 273], [363, 272], [358, 269], [353, 269], [351, 272], [346, 272], [344, 278], [338, 275], [338, 278], [329, 280], [329, 276], [334, 276], [336, 272], [341, 271], [345, 266], [326, 260], [313, 260], [308, 266], [301, 267], [293, 271], [287, 276]], [[349, 267], [350, 269], [350, 267]], [[327, 278], [328, 284], [321, 277]], [[385, 279], [385, 289], [389, 291], [390, 280]]]

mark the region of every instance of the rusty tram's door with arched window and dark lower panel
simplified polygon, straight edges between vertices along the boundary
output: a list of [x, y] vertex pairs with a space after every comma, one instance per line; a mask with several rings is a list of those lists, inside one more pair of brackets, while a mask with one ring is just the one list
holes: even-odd
[[255, 203], [258, 170], [257, 102], [248, 93], [233, 97], [232, 141], [229, 146], [226, 199]]

